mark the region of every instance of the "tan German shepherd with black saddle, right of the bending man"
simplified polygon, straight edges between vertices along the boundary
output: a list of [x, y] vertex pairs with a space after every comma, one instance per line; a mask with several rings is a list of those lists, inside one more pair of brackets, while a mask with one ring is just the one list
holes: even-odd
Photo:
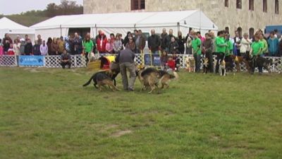
[[142, 90], [149, 87], [151, 88], [149, 93], [153, 93], [156, 88], [159, 93], [159, 83], [161, 83], [161, 88], [164, 88], [164, 86], [168, 88], [169, 81], [173, 78], [178, 78], [178, 74], [176, 72], [173, 72], [173, 75], [171, 75], [166, 71], [158, 71], [154, 68], [147, 68], [145, 70], [138, 71], [137, 76], [142, 85]]

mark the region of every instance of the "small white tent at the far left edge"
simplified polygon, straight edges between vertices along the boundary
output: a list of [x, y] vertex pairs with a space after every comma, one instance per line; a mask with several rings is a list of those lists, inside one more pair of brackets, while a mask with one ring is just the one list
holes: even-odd
[[13, 20], [4, 17], [0, 19], [0, 37], [3, 38], [6, 33], [8, 33], [12, 39], [15, 39], [17, 35], [20, 35], [20, 37], [28, 35], [32, 42], [35, 40], [34, 29], [20, 25]]

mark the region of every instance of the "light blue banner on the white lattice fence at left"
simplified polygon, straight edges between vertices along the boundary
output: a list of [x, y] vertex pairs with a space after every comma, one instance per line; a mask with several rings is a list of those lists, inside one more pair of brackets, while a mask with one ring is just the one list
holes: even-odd
[[19, 66], [44, 66], [44, 56], [20, 56]]

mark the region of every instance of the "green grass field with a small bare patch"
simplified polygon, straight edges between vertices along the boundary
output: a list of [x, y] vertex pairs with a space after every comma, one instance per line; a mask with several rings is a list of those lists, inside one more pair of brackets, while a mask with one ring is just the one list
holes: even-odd
[[160, 95], [82, 88], [91, 74], [0, 68], [0, 158], [282, 158], [279, 74], [181, 71]]

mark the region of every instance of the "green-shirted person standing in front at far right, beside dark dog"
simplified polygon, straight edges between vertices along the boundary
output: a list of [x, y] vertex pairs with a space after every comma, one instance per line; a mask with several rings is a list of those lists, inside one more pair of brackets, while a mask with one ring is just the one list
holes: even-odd
[[[252, 43], [250, 54], [252, 54], [252, 74], [257, 66], [257, 58], [262, 56], [264, 44], [259, 40], [260, 35], [255, 35], [255, 42]], [[259, 66], [259, 73], [262, 73], [262, 66]]]

